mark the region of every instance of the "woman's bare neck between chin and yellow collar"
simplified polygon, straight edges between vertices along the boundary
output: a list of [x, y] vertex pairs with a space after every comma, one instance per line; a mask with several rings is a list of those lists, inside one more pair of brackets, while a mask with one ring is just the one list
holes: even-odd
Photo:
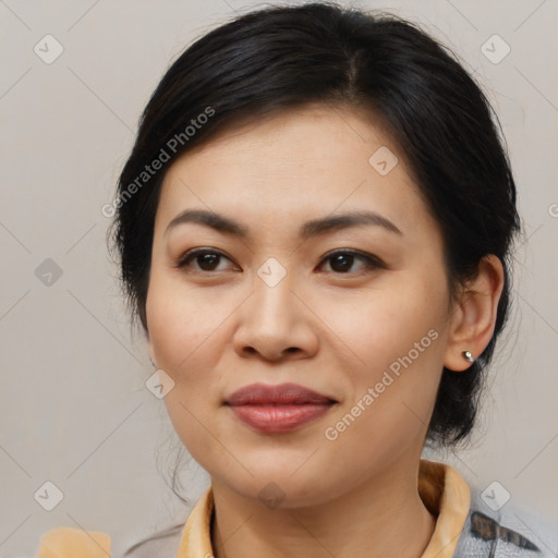
[[211, 483], [216, 558], [420, 558], [436, 524], [417, 490], [417, 470], [391, 469], [341, 497], [268, 509]]

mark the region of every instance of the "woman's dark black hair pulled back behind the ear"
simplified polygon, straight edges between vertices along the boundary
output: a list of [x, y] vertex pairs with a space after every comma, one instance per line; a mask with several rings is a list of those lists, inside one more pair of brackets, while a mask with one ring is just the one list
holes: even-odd
[[[449, 50], [397, 16], [324, 2], [260, 9], [202, 36], [172, 63], [142, 116], [109, 231], [133, 320], [147, 329], [165, 170], [217, 132], [316, 102], [365, 109], [390, 133], [441, 229], [452, 296], [484, 256], [505, 266], [490, 342], [466, 372], [442, 373], [426, 441], [456, 446], [473, 428], [508, 313], [509, 250], [520, 229], [515, 185], [480, 86]], [[147, 173], [156, 159], [163, 169]]]

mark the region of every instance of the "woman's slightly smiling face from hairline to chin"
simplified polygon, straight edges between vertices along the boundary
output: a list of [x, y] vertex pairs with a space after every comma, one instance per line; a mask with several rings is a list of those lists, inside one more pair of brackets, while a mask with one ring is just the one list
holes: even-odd
[[[207, 217], [172, 225], [185, 210]], [[185, 154], [163, 181], [146, 308], [182, 442], [214, 483], [287, 507], [414, 471], [448, 347], [446, 277], [401, 154], [356, 112], [290, 111]], [[228, 403], [287, 383], [335, 402]]]

